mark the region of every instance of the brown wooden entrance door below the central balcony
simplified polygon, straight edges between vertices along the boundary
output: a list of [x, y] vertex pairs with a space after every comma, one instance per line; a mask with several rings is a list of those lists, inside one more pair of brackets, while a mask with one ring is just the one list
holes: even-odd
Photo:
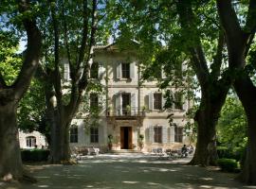
[[120, 127], [120, 148], [132, 149], [133, 148], [133, 129], [132, 127]]

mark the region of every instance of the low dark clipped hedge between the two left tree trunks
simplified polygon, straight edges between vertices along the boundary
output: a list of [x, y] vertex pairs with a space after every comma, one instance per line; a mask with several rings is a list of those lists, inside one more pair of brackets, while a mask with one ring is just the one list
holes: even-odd
[[49, 156], [48, 149], [22, 149], [21, 157], [24, 162], [46, 162]]

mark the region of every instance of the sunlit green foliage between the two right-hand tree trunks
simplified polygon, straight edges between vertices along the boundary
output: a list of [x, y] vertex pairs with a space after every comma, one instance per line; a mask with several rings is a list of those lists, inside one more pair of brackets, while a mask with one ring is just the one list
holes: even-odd
[[217, 125], [217, 137], [221, 146], [247, 146], [247, 118], [241, 102], [236, 96], [229, 96]]

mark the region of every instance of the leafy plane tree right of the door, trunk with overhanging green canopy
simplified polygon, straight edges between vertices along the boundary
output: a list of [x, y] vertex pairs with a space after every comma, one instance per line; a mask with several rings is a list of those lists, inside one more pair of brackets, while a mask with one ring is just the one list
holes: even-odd
[[225, 37], [216, 19], [214, 1], [121, 1], [119, 4], [125, 8], [118, 22], [120, 35], [140, 42], [138, 52], [145, 59], [143, 62], [157, 61], [157, 68], [164, 68], [165, 85], [167, 81], [176, 85], [172, 68], [186, 55], [201, 88], [200, 106], [194, 117], [197, 144], [191, 163], [215, 164], [216, 123], [231, 82], [222, 69]]

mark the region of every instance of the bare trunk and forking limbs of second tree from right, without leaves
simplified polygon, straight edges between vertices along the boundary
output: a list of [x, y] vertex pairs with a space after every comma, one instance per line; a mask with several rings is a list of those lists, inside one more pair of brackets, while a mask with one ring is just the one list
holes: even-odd
[[192, 33], [192, 35], [183, 36], [190, 42], [186, 43], [184, 51], [191, 57], [192, 69], [202, 92], [200, 107], [194, 117], [198, 129], [196, 149], [191, 164], [215, 165], [217, 160], [216, 124], [231, 84], [227, 75], [220, 74], [225, 37], [223, 32], [219, 31], [218, 46], [216, 52], [212, 52], [214, 60], [210, 64], [210, 71], [201, 43], [200, 30], [192, 10], [192, 2], [177, 1], [177, 11], [184, 33], [188, 31]]

